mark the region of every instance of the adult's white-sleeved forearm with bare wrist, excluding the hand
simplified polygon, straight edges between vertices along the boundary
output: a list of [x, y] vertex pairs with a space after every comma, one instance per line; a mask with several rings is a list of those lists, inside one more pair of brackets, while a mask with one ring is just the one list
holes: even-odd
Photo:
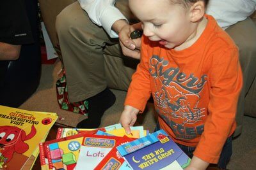
[[115, 0], [78, 1], [92, 22], [103, 27], [111, 38], [118, 38], [118, 33], [122, 27], [128, 25], [128, 20], [115, 7]]

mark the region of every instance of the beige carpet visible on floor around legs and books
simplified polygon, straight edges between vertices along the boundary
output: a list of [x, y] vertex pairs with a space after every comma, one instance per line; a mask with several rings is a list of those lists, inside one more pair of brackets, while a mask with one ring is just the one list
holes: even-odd
[[[42, 77], [38, 89], [20, 108], [31, 111], [58, 113], [60, 117], [58, 123], [76, 127], [77, 122], [86, 117], [70, 111], [61, 110], [56, 101], [55, 83], [60, 69], [60, 61], [57, 61], [53, 65], [43, 65]], [[120, 114], [122, 113], [126, 93], [120, 90], [113, 90], [113, 92], [116, 95], [116, 103], [102, 117], [101, 127], [118, 123]], [[148, 107], [152, 107], [152, 104], [148, 104]], [[154, 113], [146, 112], [140, 115], [136, 125], [143, 125], [150, 132], [154, 131]], [[238, 138], [233, 140], [233, 152], [228, 169], [256, 169], [256, 118], [244, 117], [243, 132]]]

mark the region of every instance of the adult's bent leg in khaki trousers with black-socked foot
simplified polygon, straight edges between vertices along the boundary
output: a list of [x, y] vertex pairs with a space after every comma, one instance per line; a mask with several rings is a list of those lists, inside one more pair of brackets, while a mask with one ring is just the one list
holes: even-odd
[[56, 18], [63, 66], [67, 77], [68, 99], [89, 102], [88, 119], [77, 127], [99, 127], [106, 109], [115, 103], [115, 96], [106, 89], [103, 48], [117, 43], [93, 24], [79, 3], [67, 6]]

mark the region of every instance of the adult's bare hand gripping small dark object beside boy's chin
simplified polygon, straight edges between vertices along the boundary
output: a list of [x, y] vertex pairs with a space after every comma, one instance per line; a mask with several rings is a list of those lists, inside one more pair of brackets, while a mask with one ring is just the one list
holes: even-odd
[[141, 23], [125, 25], [119, 32], [118, 37], [123, 54], [134, 59], [140, 59], [141, 38], [130, 38], [131, 32], [135, 29], [141, 29]]

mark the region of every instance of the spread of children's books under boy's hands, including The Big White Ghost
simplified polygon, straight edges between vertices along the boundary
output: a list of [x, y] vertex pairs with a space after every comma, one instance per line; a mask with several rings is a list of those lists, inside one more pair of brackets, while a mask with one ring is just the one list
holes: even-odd
[[143, 126], [125, 134], [120, 124], [99, 129], [59, 128], [40, 143], [40, 162], [49, 169], [184, 169], [191, 160], [163, 130]]

